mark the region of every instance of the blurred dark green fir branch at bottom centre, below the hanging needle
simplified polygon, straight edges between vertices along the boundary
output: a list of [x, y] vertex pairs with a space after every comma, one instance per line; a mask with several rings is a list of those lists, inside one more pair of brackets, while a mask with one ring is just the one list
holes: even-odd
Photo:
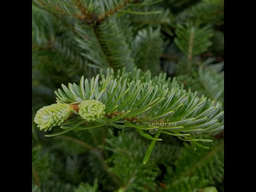
[[[173, 159], [180, 150], [179, 146], [171, 146], [159, 143], [152, 153], [150, 162], [147, 165], [142, 164], [144, 153], [147, 149], [147, 143], [138, 140], [138, 134], [134, 132], [120, 132], [118, 137], [110, 132], [110, 139], [106, 142], [109, 145], [104, 149], [113, 152], [113, 155], [107, 162], [114, 164], [110, 168], [122, 181], [122, 187], [125, 191], [155, 191], [156, 177], [160, 174], [158, 164], [164, 163], [164, 159]], [[130, 143], [133, 139], [134, 142]]]

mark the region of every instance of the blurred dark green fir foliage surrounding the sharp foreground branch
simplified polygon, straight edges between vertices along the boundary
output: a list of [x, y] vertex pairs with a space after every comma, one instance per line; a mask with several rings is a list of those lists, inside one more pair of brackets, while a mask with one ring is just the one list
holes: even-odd
[[224, 108], [224, 0], [32, 0], [32, 192], [223, 192], [224, 131], [210, 149], [163, 139], [144, 165], [149, 141], [132, 129], [38, 130], [61, 84], [123, 67]]

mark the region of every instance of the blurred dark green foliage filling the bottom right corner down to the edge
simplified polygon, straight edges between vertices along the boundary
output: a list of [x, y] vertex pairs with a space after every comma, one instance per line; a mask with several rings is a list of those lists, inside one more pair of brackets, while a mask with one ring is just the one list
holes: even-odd
[[[216, 141], [208, 146], [210, 149], [206, 150], [196, 145], [185, 144], [185, 148], [175, 162], [175, 171], [171, 168], [167, 170], [167, 188], [173, 191], [193, 191], [222, 180], [223, 141]], [[194, 175], [196, 177], [193, 177]]]

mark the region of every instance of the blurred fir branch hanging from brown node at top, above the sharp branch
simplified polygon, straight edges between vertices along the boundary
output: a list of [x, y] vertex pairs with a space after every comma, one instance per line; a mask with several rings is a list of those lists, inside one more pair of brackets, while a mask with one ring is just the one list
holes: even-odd
[[[114, 70], [126, 66], [134, 67], [133, 58], [124, 32], [118, 28], [114, 18], [108, 18], [95, 28], [88, 25], [76, 25], [80, 48], [94, 68], [112, 67]], [[95, 46], [97, 48], [95, 48]]]

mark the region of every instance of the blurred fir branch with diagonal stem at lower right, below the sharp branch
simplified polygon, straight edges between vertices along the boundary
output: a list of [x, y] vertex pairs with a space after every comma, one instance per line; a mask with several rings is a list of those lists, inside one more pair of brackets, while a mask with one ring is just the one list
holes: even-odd
[[180, 182], [192, 175], [197, 175], [200, 180], [208, 180], [207, 184], [214, 184], [221, 181], [224, 173], [224, 150], [223, 140], [215, 141], [207, 146], [206, 150], [196, 146], [196, 143], [189, 146], [184, 144], [182, 152], [175, 163], [175, 172], [168, 170], [166, 182], [170, 186], [174, 182]]

